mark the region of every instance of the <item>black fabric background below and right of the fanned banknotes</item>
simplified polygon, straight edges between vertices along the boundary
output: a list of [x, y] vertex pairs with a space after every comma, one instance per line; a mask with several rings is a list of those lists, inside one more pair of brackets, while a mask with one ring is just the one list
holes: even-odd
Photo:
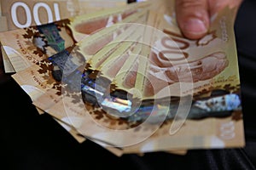
[[[38, 112], [31, 99], [0, 70], [0, 168], [15, 170], [84, 169], [256, 169], [256, 1], [245, 0], [236, 17], [236, 42], [246, 147], [113, 156], [86, 140], [79, 144], [51, 116]], [[1, 60], [2, 62], [2, 60]], [[2, 71], [2, 72], [1, 72]]]

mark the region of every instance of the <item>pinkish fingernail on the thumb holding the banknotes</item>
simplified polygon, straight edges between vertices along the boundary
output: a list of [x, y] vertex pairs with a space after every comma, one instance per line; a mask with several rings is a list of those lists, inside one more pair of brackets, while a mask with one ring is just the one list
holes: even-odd
[[207, 26], [202, 20], [189, 19], [183, 25], [183, 31], [192, 34], [202, 34], [207, 32]]

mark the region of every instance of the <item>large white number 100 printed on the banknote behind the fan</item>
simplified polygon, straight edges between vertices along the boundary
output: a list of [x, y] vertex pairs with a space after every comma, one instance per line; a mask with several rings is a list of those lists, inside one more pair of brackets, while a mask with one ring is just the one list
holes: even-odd
[[[58, 3], [53, 3], [53, 6], [54, 6], [53, 8], [54, 8], [54, 13], [55, 13], [55, 20], [61, 20]], [[19, 22], [18, 16], [17, 16], [17, 8], [23, 8], [25, 10], [26, 23], [22, 24]], [[32, 25], [32, 16], [33, 16], [33, 20], [35, 21], [36, 25], [41, 25], [42, 23], [40, 22], [39, 16], [38, 16], [39, 8], [45, 9], [46, 13], [48, 14], [48, 22], [54, 21], [53, 13], [52, 13], [51, 9], [49, 8], [48, 4], [36, 3], [33, 6], [32, 11], [31, 11], [26, 3], [16, 2], [11, 7], [11, 17], [12, 17], [12, 20], [13, 20], [15, 26], [17, 26], [18, 28], [24, 28], [24, 27], [31, 26]], [[32, 14], [31, 14], [31, 12], [32, 12]]]

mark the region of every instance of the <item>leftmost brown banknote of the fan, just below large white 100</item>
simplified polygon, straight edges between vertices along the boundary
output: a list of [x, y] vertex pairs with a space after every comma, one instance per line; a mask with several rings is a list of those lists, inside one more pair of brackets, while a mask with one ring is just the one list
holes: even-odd
[[[130, 4], [124, 7], [104, 9], [93, 14], [74, 16], [40, 26], [29, 26], [13, 31], [0, 32], [0, 41], [5, 51], [4, 59], [15, 71], [26, 69], [32, 63], [73, 46], [96, 30], [124, 20], [147, 3]], [[8, 59], [6, 59], [8, 58]], [[6, 66], [8, 72], [14, 71]]]

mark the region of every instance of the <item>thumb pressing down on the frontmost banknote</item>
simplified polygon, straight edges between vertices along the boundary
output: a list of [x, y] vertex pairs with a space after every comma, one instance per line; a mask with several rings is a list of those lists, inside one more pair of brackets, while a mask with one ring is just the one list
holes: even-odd
[[189, 39], [203, 37], [209, 27], [207, 0], [176, 0], [177, 24]]

